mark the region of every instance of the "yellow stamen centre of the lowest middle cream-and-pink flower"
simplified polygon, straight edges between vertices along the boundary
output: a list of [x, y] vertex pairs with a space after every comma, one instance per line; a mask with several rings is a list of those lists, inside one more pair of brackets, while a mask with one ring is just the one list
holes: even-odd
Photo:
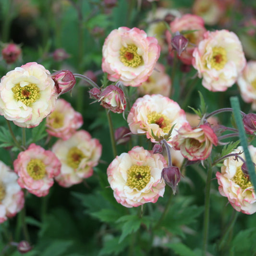
[[136, 188], [137, 190], [142, 190], [146, 187], [146, 184], [149, 183], [151, 173], [150, 167], [146, 166], [139, 166], [133, 165], [127, 171], [127, 182], [126, 185], [130, 188]]

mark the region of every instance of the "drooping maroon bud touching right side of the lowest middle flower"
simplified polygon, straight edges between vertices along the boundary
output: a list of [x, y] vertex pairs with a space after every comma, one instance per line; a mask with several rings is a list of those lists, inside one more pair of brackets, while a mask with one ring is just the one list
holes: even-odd
[[162, 171], [164, 182], [171, 187], [173, 195], [176, 194], [177, 185], [181, 180], [181, 171], [176, 166], [166, 167]]

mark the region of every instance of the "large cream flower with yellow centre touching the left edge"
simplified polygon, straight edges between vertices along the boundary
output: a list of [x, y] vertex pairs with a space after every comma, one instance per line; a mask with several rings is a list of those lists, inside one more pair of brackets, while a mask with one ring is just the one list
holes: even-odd
[[0, 115], [20, 127], [35, 127], [54, 109], [57, 97], [49, 71], [29, 62], [1, 78]]

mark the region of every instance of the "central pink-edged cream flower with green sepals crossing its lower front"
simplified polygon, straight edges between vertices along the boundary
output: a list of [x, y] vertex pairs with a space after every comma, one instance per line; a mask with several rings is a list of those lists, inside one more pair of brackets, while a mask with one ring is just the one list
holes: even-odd
[[138, 98], [128, 114], [127, 122], [133, 134], [146, 134], [152, 142], [156, 142], [152, 132], [157, 137], [164, 136], [175, 124], [172, 131], [174, 136], [176, 130], [187, 123], [185, 112], [179, 104], [159, 94]]

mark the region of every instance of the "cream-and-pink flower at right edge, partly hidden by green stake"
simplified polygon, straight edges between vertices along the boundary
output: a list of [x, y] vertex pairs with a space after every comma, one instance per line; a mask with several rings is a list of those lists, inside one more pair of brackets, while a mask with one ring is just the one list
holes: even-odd
[[[256, 147], [248, 146], [251, 158], [256, 163]], [[239, 146], [232, 153], [243, 152]], [[245, 159], [244, 153], [239, 155]], [[245, 214], [256, 212], [256, 193], [253, 184], [242, 171], [243, 161], [239, 158], [229, 157], [224, 160], [221, 172], [216, 173], [219, 183], [219, 193], [228, 197], [232, 207]]]

